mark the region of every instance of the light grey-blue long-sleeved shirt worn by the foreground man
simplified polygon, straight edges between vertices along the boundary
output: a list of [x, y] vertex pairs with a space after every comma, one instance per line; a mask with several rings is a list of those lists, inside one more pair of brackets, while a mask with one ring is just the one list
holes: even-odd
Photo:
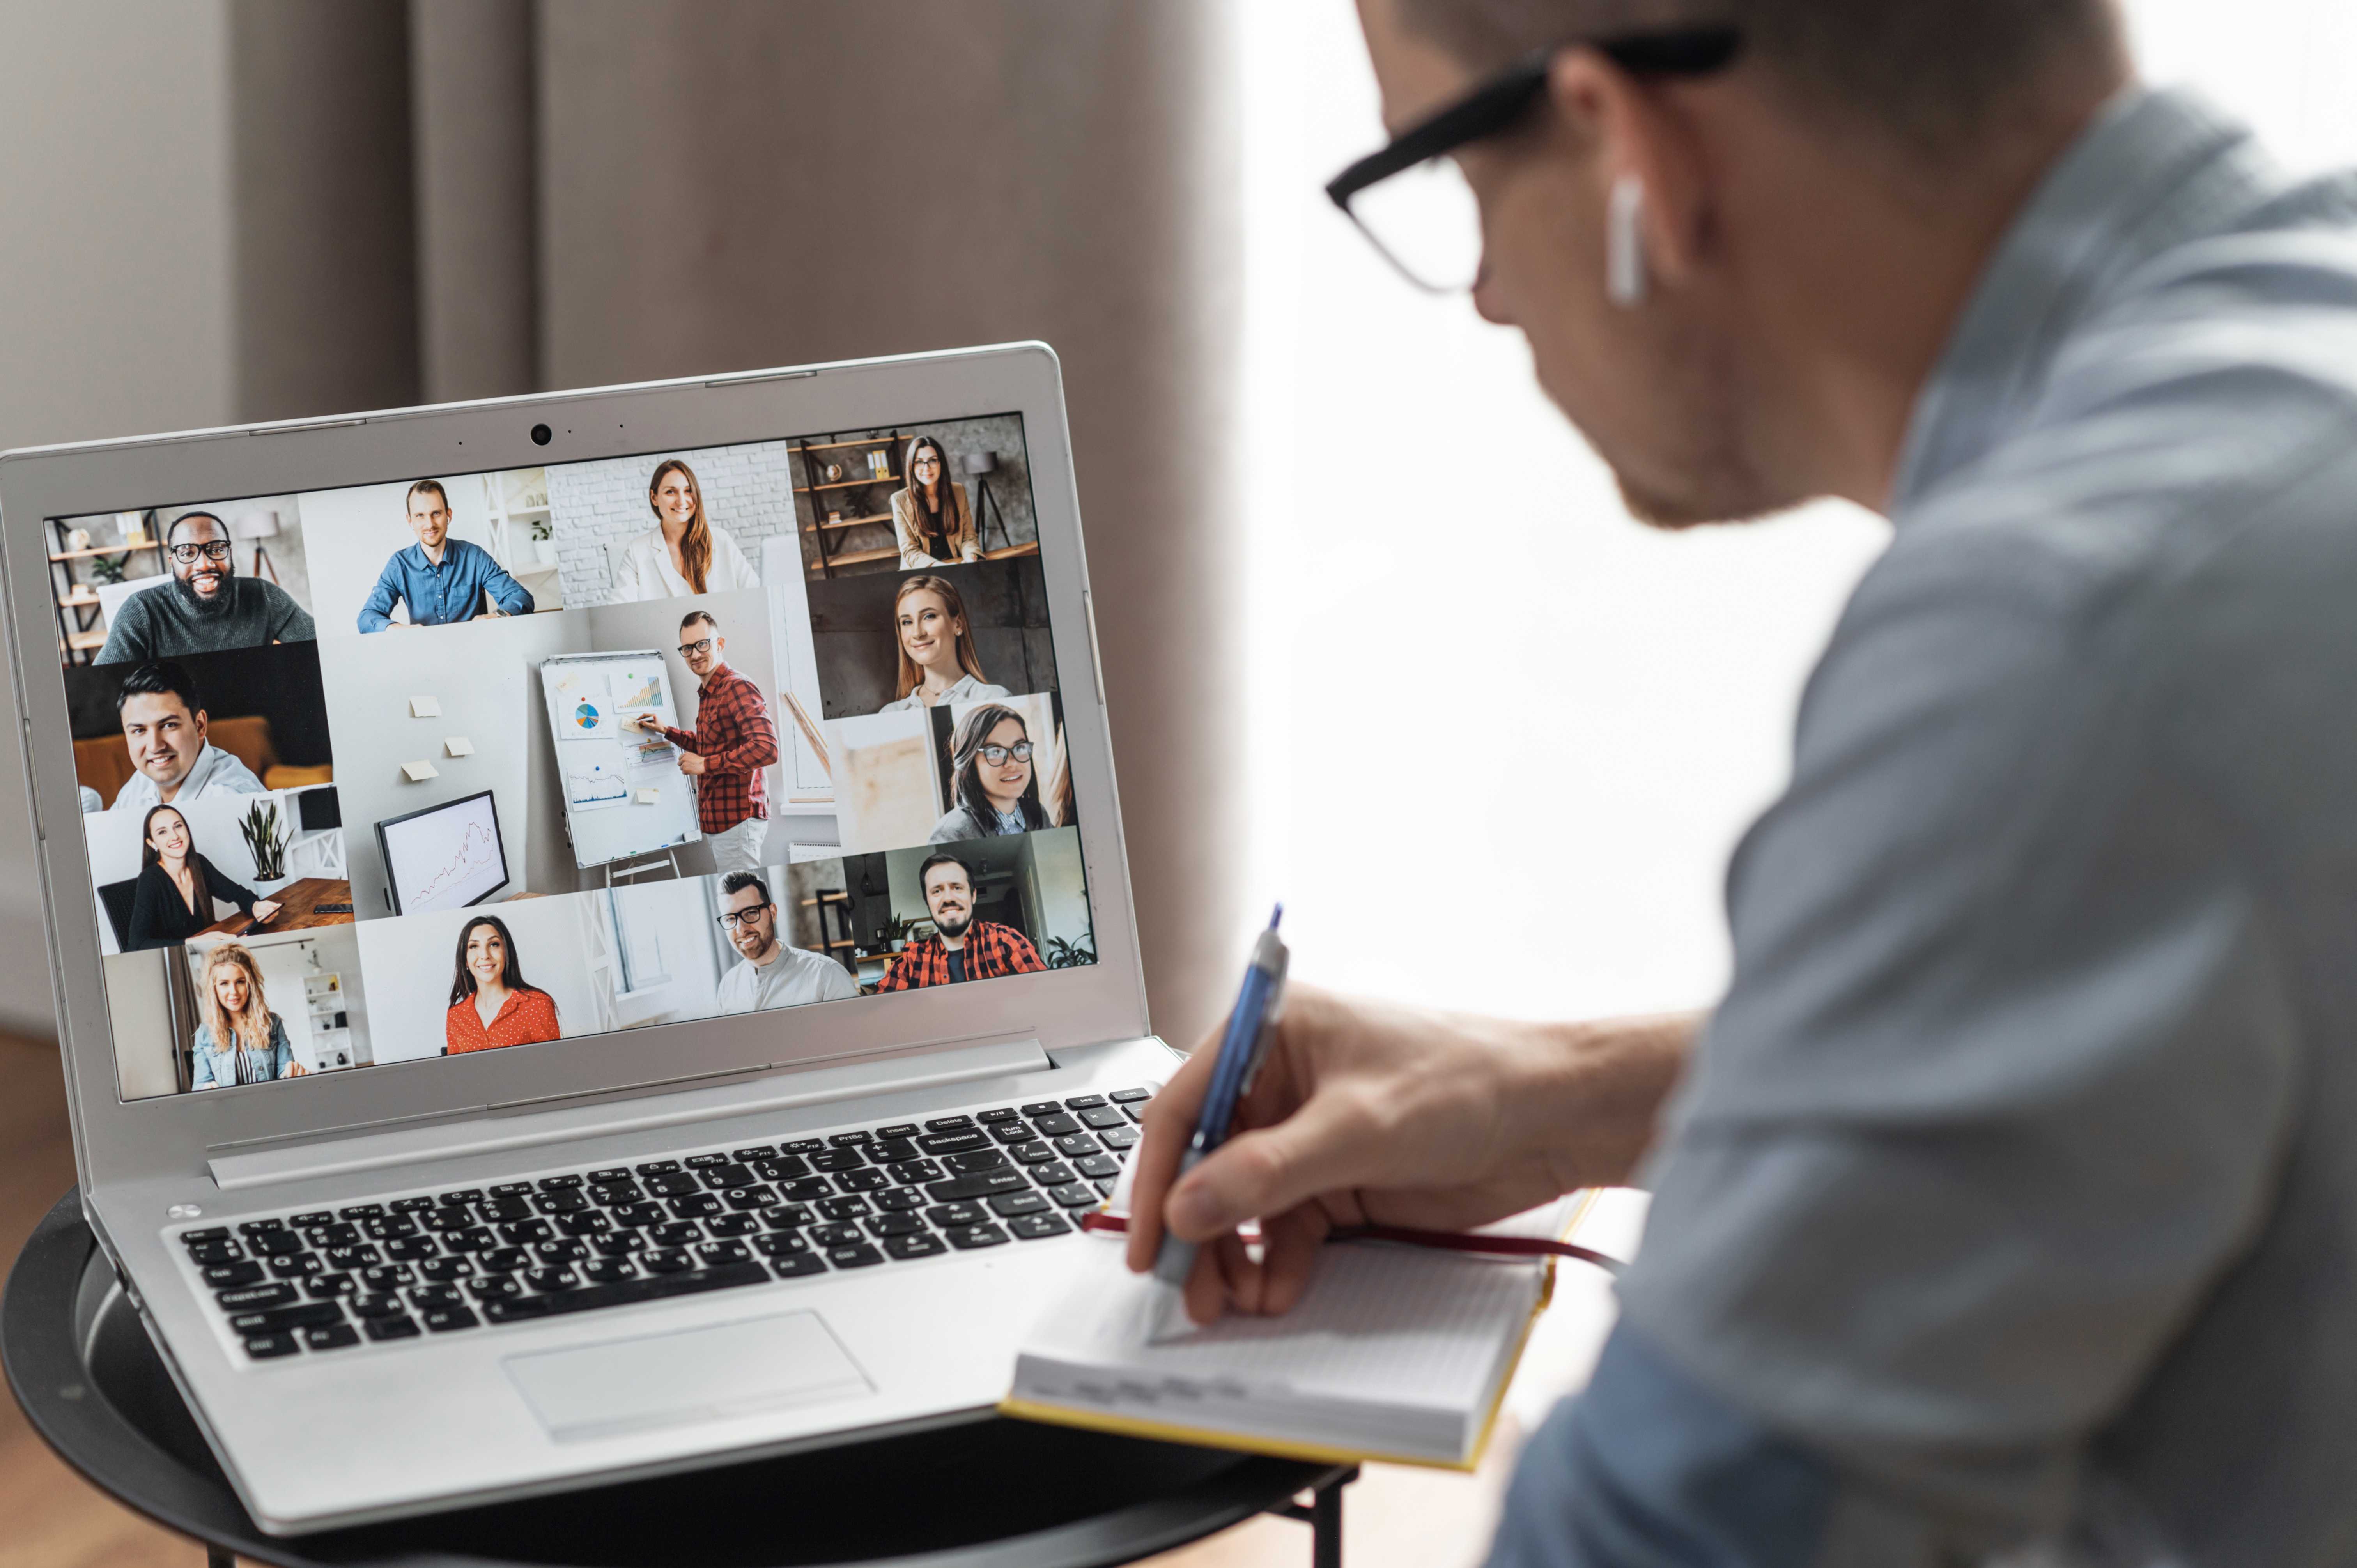
[[2350, 1561], [2357, 182], [2112, 106], [1893, 516], [1492, 1563]]

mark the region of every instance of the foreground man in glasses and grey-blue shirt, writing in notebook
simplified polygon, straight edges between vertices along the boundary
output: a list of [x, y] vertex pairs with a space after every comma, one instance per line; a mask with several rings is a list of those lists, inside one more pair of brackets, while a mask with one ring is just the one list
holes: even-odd
[[1296, 988], [1186, 1179], [1211, 1052], [1153, 1101], [1131, 1266], [1167, 1221], [1195, 1318], [1280, 1313], [1334, 1226], [1643, 1181], [1497, 1568], [2352, 1561], [2357, 184], [2107, 0], [1360, 17], [1334, 200], [1640, 516], [1895, 528], [1709, 1016]]

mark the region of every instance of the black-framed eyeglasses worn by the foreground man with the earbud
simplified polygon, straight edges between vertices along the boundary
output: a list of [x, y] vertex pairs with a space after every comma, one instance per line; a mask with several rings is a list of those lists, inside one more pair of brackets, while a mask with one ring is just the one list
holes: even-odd
[[1480, 278], [1480, 205], [1450, 153], [1527, 116], [1546, 97], [1549, 68], [1563, 50], [1596, 50], [1631, 75], [1716, 75], [1744, 52], [1744, 35], [1704, 26], [1539, 50], [1336, 174], [1327, 196], [1417, 288], [1454, 295]]

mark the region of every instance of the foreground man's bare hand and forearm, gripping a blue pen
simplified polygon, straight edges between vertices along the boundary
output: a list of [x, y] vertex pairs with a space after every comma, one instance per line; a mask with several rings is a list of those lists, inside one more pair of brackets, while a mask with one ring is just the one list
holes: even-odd
[[[1129, 1266], [1153, 1266], [1167, 1224], [1209, 1243], [1186, 1285], [1193, 1320], [1273, 1316], [1301, 1299], [1329, 1231], [1457, 1231], [1626, 1181], [1697, 1023], [1511, 1023], [1294, 986], [1235, 1132], [1176, 1186], [1219, 1030], [1146, 1108]], [[1259, 1264], [1235, 1236], [1247, 1219]]]

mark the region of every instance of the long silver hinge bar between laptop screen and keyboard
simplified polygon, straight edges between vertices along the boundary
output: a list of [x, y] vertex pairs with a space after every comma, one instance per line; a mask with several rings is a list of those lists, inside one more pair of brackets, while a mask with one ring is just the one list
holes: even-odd
[[389, 1132], [368, 1132], [349, 1139], [328, 1139], [283, 1148], [252, 1148], [238, 1153], [224, 1151], [212, 1155], [207, 1167], [222, 1191], [236, 1191], [245, 1186], [269, 1186], [276, 1181], [344, 1177], [351, 1172], [412, 1165], [420, 1160], [455, 1160], [462, 1155], [533, 1148], [535, 1144], [566, 1144], [573, 1139], [608, 1137], [615, 1132], [709, 1122], [759, 1111], [790, 1111], [794, 1106], [820, 1106], [837, 1099], [867, 1099], [874, 1094], [929, 1089], [936, 1085], [971, 1082], [978, 1078], [1044, 1073], [1054, 1066], [1056, 1063], [1049, 1061], [1049, 1054], [1039, 1047], [1039, 1040], [1002, 1037], [988, 1045], [919, 1049], [884, 1059], [870, 1056], [832, 1068], [773, 1073], [768, 1078], [738, 1080], [709, 1089], [688, 1089], [681, 1094], [660, 1094], [622, 1103], [606, 1101], [596, 1106], [542, 1111], [535, 1115], [398, 1127]]

